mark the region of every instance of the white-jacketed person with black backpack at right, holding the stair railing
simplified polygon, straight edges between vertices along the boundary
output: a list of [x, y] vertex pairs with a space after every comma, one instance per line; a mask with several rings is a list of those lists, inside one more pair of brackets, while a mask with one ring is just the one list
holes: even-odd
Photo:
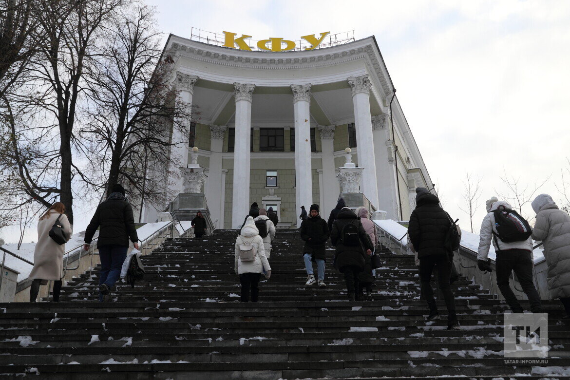
[[532, 228], [507, 202], [492, 197], [486, 204], [487, 215], [483, 218], [479, 232], [479, 269], [483, 272], [491, 271], [487, 257], [492, 242], [496, 253], [497, 286], [512, 312], [524, 312], [508, 283], [511, 272], [514, 271], [520, 287], [530, 301], [531, 311], [542, 313], [540, 295], [532, 282]]

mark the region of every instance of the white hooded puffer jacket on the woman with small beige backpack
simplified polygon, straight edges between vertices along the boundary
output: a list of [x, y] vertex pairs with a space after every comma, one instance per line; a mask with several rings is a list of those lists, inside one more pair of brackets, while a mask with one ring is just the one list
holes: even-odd
[[[253, 261], [242, 261], [239, 259], [239, 246], [245, 243], [251, 243], [257, 249], [257, 255], [255, 255]], [[253, 218], [248, 216], [246, 224], [242, 227], [241, 235], [235, 239], [234, 270], [237, 275], [242, 275], [243, 273], [261, 273], [263, 269], [271, 271], [269, 261], [265, 255], [263, 239], [259, 236], [257, 228], [255, 228]]]

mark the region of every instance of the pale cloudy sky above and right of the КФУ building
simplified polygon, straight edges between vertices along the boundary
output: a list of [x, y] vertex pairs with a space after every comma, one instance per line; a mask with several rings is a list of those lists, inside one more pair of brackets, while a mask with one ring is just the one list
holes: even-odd
[[[523, 187], [550, 177], [539, 193], [560, 203], [555, 185], [570, 166], [570, 1], [146, 3], [156, 6], [165, 36], [189, 37], [190, 27], [256, 40], [324, 31], [374, 35], [431, 179], [463, 228], [468, 171], [483, 189], [477, 230], [485, 199], [506, 191], [503, 170]], [[534, 216], [530, 205], [523, 211]], [[76, 231], [90, 216], [80, 212]]]

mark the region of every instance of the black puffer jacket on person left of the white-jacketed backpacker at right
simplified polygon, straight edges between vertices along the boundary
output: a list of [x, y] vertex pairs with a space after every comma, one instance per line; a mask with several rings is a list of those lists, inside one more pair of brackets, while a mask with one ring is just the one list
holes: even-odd
[[444, 245], [450, 226], [449, 216], [439, 207], [439, 198], [427, 190], [417, 195], [408, 235], [420, 260], [426, 256], [453, 255], [453, 252], [446, 251]]

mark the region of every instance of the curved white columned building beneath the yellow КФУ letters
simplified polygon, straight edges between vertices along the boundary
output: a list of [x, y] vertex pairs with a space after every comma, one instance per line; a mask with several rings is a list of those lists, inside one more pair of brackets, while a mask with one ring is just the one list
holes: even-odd
[[[199, 113], [190, 136], [172, 134], [172, 157], [192, 168], [192, 147], [199, 149], [217, 228], [240, 225], [253, 202], [272, 206], [283, 226], [296, 226], [300, 206], [308, 211], [312, 203], [328, 218], [345, 148], [364, 168], [360, 192], [390, 219], [407, 220], [415, 188], [433, 188], [373, 36], [271, 52], [170, 35], [164, 56], [174, 61], [181, 99]], [[177, 177], [174, 190], [184, 193]], [[167, 206], [144, 205], [144, 221]]]

